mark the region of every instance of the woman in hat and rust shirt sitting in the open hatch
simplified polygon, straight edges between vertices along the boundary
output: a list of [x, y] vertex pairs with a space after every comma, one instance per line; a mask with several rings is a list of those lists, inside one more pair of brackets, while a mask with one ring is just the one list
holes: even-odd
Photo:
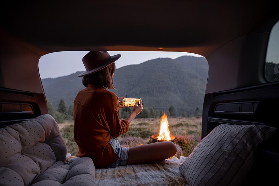
[[130, 123], [142, 109], [142, 100], [131, 114], [119, 119], [121, 98], [105, 89], [115, 89], [114, 61], [121, 55], [110, 56], [107, 51], [90, 51], [82, 58], [86, 71], [79, 74], [86, 87], [79, 91], [73, 108], [74, 139], [78, 144], [78, 157], [91, 157], [96, 167], [115, 167], [160, 161], [176, 153], [173, 142], [159, 142], [126, 148], [117, 137], [126, 133]]

